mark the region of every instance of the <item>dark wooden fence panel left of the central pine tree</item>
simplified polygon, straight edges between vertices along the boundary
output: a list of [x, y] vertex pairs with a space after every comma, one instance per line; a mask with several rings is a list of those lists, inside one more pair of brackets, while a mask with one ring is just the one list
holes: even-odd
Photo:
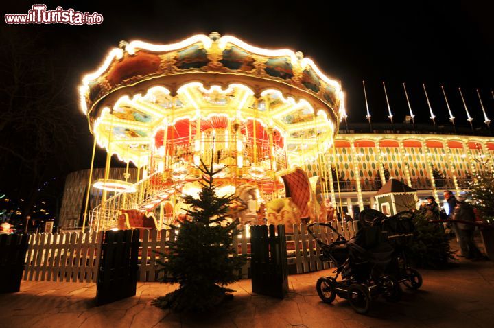
[[139, 230], [105, 231], [97, 277], [97, 305], [135, 296], [138, 255]]

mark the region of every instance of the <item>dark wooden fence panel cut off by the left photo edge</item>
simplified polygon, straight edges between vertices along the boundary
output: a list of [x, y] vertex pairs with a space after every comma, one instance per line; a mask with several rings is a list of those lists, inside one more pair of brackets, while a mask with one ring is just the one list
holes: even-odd
[[0, 235], [0, 293], [21, 289], [29, 235]]

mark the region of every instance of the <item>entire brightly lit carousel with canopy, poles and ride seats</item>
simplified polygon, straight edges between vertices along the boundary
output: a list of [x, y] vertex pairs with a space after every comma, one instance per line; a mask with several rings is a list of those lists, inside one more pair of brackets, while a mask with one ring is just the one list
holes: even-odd
[[[80, 101], [95, 145], [108, 152], [105, 178], [90, 181], [103, 190], [91, 229], [180, 220], [180, 196], [200, 191], [201, 160], [224, 167], [217, 192], [238, 197], [231, 215], [244, 224], [318, 218], [326, 184], [311, 183], [305, 167], [325, 161], [342, 91], [300, 52], [217, 33], [171, 45], [121, 42], [83, 78]], [[108, 178], [114, 154], [137, 167], [137, 181]], [[327, 165], [318, 168], [320, 181]]]

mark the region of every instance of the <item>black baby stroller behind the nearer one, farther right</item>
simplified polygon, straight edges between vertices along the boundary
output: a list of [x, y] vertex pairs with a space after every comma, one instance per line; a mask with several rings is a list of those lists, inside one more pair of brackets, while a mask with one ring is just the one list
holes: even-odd
[[406, 257], [406, 247], [412, 241], [415, 226], [412, 222], [414, 213], [410, 211], [399, 212], [389, 218], [375, 209], [365, 209], [360, 213], [359, 222], [367, 222], [373, 226], [379, 226], [387, 242], [392, 246], [391, 263], [386, 268], [386, 274], [390, 274], [411, 290], [421, 288], [422, 276], [419, 271], [410, 268]]

